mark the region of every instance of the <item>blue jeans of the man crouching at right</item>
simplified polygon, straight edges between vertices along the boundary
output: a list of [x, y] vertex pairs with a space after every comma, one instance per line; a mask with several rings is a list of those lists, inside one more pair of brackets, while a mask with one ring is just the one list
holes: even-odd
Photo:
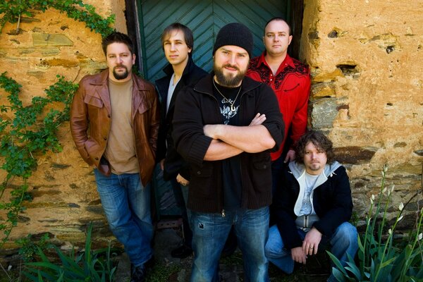
[[[298, 234], [300, 234], [301, 239], [304, 240], [306, 233], [298, 229]], [[357, 237], [358, 234], [355, 226], [349, 222], [344, 222], [336, 228], [335, 233], [329, 238], [331, 253], [335, 255], [344, 266], [346, 265], [345, 262], [348, 262], [347, 254], [354, 257], [358, 250]], [[326, 240], [326, 242], [328, 241]], [[326, 242], [324, 237], [322, 237], [321, 243]], [[320, 245], [321, 244], [319, 244], [319, 246]], [[266, 257], [269, 258], [269, 262], [275, 264], [287, 274], [293, 273], [294, 261], [291, 257], [290, 250], [284, 247], [281, 233], [279, 233], [278, 226], [276, 225], [271, 226], [269, 229], [269, 239], [267, 240], [264, 252], [266, 252]], [[335, 277], [331, 275], [328, 281], [332, 281], [331, 278], [335, 279]], [[333, 281], [336, 281], [336, 279]]]

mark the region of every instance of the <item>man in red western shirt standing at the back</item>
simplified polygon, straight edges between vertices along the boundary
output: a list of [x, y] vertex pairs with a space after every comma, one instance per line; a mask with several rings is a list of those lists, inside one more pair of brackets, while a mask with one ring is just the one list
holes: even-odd
[[266, 83], [274, 90], [286, 125], [281, 147], [277, 152], [271, 153], [273, 194], [279, 186], [276, 176], [280, 174], [283, 163], [295, 159], [295, 151], [292, 148], [287, 148], [287, 154], [282, 155], [287, 137], [290, 138], [289, 143], [294, 144], [307, 129], [309, 68], [288, 55], [288, 46], [292, 39], [290, 26], [283, 18], [269, 20], [264, 27], [263, 37], [266, 51], [251, 59], [247, 71], [247, 76]]

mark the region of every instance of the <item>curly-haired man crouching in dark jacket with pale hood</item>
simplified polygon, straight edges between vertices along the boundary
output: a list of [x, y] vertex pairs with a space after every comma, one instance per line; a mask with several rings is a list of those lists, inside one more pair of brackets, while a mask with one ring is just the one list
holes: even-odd
[[[348, 220], [353, 212], [350, 182], [345, 168], [333, 161], [332, 142], [311, 130], [295, 147], [295, 161], [281, 173], [272, 212], [276, 224], [269, 230], [265, 253], [287, 274], [294, 262], [306, 263], [320, 243], [345, 265], [358, 249], [357, 229]], [[348, 254], [348, 255], [347, 255]], [[336, 281], [331, 275], [328, 281]]]

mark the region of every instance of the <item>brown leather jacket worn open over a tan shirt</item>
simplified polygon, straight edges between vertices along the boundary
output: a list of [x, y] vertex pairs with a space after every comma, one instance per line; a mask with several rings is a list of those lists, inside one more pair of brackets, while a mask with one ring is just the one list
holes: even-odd
[[[86, 75], [80, 81], [71, 106], [73, 141], [82, 159], [97, 166], [105, 175], [111, 173], [108, 164], [100, 164], [111, 125], [108, 79], [109, 69], [96, 75]], [[135, 153], [142, 185], [145, 186], [151, 180], [154, 169], [160, 116], [154, 86], [137, 75], [133, 75], [132, 105]]]

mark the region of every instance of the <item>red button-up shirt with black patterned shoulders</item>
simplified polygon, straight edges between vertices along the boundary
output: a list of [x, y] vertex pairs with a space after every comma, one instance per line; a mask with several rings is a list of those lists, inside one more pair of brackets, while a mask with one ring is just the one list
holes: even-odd
[[285, 134], [278, 152], [271, 153], [271, 160], [274, 161], [281, 157], [289, 129], [291, 129], [290, 139], [293, 144], [305, 133], [310, 76], [309, 68], [300, 61], [292, 59], [288, 54], [274, 75], [264, 59], [265, 55], [266, 51], [261, 56], [251, 59], [247, 76], [269, 85], [278, 99], [279, 109], [285, 122]]

